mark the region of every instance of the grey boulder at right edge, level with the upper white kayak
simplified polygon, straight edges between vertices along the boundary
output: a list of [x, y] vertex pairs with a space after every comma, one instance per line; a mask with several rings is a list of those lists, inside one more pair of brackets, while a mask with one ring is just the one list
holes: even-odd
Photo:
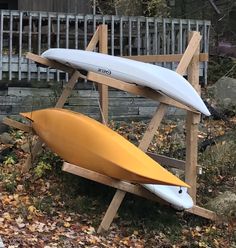
[[209, 88], [209, 92], [222, 109], [236, 106], [236, 79], [222, 77]]

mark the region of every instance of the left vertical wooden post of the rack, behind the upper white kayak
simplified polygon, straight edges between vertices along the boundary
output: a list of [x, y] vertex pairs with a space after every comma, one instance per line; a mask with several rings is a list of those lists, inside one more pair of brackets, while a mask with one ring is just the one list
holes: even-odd
[[[108, 53], [108, 30], [107, 25], [103, 24], [99, 26], [98, 30], [98, 37], [99, 37], [99, 52], [107, 54]], [[99, 84], [98, 86], [99, 91], [99, 100], [101, 106], [101, 119], [102, 122], [105, 124], [108, 122], [108, 86], [105, 84]]]

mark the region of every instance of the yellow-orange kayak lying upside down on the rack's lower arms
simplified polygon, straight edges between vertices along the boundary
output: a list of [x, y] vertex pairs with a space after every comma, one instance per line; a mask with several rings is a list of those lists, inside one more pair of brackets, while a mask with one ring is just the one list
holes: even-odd
[[118, 133], [80, 113], [50, 108], [22, 113], [65, 161], [136, 183], [189, 187]]

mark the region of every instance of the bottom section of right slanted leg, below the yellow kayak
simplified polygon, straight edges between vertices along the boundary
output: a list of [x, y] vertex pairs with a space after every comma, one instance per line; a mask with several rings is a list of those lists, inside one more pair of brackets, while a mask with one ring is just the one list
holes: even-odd
[[124, 197], [125, 197], [126, 192], [122, 191], [122, 190], [117, 190], [107, 211], [106, 214], [98, 228], [98, 233], [102, 233], [105, 232], [109, 229], [119, 207], [121, 202], [123, 201]]

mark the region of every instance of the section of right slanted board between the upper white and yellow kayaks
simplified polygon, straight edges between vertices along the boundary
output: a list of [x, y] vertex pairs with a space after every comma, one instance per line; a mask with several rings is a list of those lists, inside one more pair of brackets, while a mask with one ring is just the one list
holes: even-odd
[[155, 135], [155, 132], [157, 128], [159, 127], [166, 111], [167, 111], [168, 106], [166, 104], [161, 103], [160, 106], [157, 108], [157, 111], [150, 121], [147, 130], [145, 131], [142, 140], [139, 143], [139, 148], [143, 151], [146, 152], [152, 139], [153, 136]]

